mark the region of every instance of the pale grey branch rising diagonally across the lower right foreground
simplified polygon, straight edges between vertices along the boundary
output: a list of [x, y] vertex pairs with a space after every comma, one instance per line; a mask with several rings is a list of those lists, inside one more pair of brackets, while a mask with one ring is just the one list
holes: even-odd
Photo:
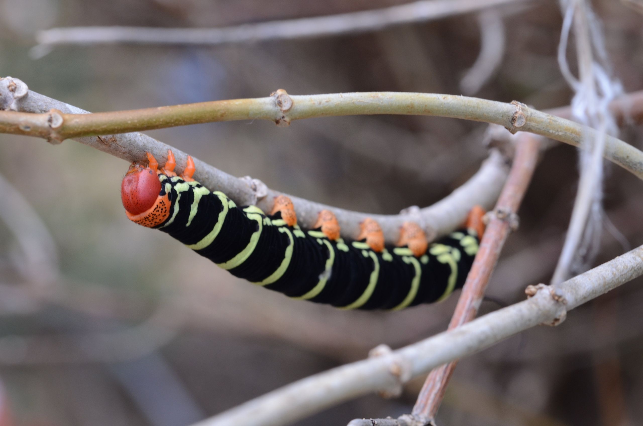
[[372, 391], [386, 391], [446, 362], [538, 324], [558, 324], [570, 311], [643, 275], [643, 246], [620, 255], [556, 288], [529, 286], [530, 299], [379, 357], [310, 376], [194, 426], [280, 426]]

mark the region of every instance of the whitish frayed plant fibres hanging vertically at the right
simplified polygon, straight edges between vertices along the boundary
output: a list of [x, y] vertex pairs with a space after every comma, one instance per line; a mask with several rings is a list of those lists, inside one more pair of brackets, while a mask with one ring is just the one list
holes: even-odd
[[[611, 77], [600, 23], [590, 4], [584, 0], [567, 0], [562, 5], [565, 20], [558, 62], [563, 76], [576, 93], [572, 99], [572, 114], [581, 123], [596, 129], [597, 133], [586, 134], [586, 142], [579, 149], [579, 189], [552, 284], [587, 270], [598, 254], [603, 215], [602, 156], [608, 135], [618, 133], [608, 104], [622, 93], [620, 82]], [[570, 28], [574, 29], [579, 79], [572, 75], [566, 60]]]

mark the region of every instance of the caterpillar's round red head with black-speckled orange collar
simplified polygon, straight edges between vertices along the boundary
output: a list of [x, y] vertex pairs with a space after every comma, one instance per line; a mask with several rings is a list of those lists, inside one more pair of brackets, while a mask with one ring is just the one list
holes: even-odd
[[127, 218], [144, 227], [155, 227], [170, 215], [168, 195], [159, 196], [158, 162], [147, 153], [149, 165], [133, 163], [121, 183], [121, 201]]

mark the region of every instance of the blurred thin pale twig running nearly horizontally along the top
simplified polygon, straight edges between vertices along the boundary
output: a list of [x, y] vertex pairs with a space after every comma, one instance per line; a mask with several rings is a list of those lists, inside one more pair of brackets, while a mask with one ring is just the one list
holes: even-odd
[[372, 32], [388, 26], [419, 23], [525, 0], [421, 0], [406, 5], [348, 14], [287, 19], [225, 28], [71, 27], [37, 33], [32, 57], [66, 44], [187, 44], [214, 46], [264, 40], [302, 39]]

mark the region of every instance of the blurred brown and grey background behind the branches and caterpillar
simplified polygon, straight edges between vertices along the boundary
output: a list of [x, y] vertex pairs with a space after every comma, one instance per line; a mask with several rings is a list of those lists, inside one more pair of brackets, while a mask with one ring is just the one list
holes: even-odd
[[[539, 109], [572, 92], [556, 49], [556, 1], [504, 5], [500, 62], [482, 87], [461, 81], [480, 52], [478, 14], [359, 35], [186, 48], [71, 46], [39, 60], [34, 34], [55, 26], [214, 27], [338, 14], [402, 0], [0, 0], [0, 75], [89, 111], [341, 91], [474, 94]], [[625, 91], [643, 87], [643, 14], [593, 1]], [[502, 27], [498, 27], [502, 30]], [[496, 29], [498, 29], [496, 28]], [[502, 39], [501, 39], [502, 40]], [[575, 70], [573, 55], [570, 58]], [[485, 158], [484, 124], [417, 116], [228, 122], [149, 134], [235, 176], [352, 210], [426, 206]], [[626, 125], [620, 137], [643, 148]], [[127, 163], [73, 141], [0, 134], [0, 411], [19, 426], [183, 426], [293, 380], [446, 329], [457, 295], [396, 313], [339, 311], [235, 279], [126, 217]], [[597, 263], [643, 243], [643, 184], [607, 165]], [[577, 153], [543, 155], [481, 314], [548, 282], [577, 185]], [[634, 425], [643, 422], [642, 281], [460, 362], [440, 425]], [[410, 412], [372, 395], [299, 425]], [[0, 416], [1, 418], [1, 416]], [[5, 423], [3, 423], [3, 426]]]

